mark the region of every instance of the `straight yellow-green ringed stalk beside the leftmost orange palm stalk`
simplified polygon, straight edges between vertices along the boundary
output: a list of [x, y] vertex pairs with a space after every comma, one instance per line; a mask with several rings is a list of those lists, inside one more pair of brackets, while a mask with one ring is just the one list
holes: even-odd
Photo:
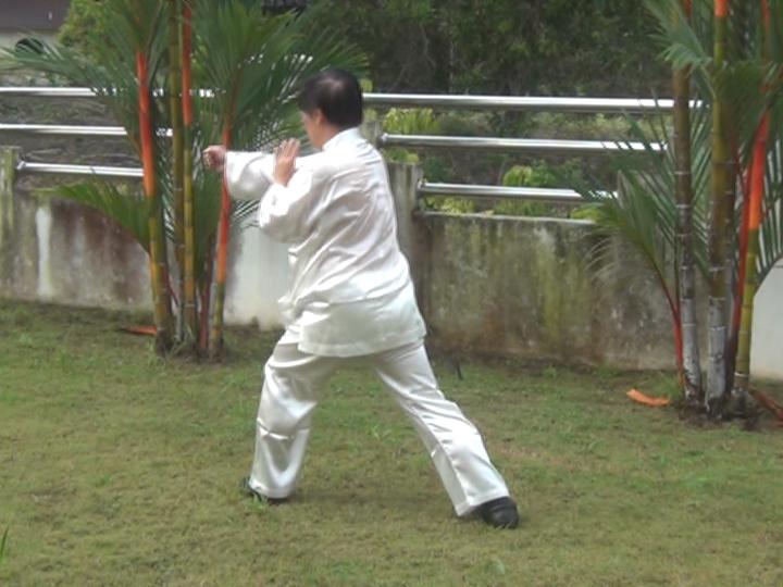
[[185, 332], [185, 228], [183, 193], [183, 116], [182, 68], [179, 50], [179, 1], [169, 0], [169, 116], [172, 128], [172, 197], [174, 202], [174, 255], [177, 263], [176, 292], [179, 311], [176, 338], [183, 341]]

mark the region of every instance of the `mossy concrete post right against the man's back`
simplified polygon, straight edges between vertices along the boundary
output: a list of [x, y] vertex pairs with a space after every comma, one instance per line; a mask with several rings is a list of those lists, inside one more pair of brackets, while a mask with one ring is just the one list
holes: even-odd
[[421, 273], [421, 246], [413, 213], [419, 207], [417, 187], [422, 177], [421, 167], [415, 163], [388, 162], [389, 184], [397, 213], [397, 240], [408, 258], [411, 276], [418, 285]]

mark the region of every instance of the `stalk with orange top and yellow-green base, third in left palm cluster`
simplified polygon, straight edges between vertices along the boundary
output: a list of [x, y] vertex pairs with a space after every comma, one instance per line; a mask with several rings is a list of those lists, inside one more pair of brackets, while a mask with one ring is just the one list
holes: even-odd
[[183, 4], [183, 20], [179, 29], [182, 48], [182, 113], [183, 113], [183, 314], [185, 327], [183, 342], [192, 346], [199, 336], [198, 320], [196, 316], [196, 229], [192, 187], [192, 102], [190, 98], [190, 65], [191, 65], [191, 12], [190, 3], [185, 0]]

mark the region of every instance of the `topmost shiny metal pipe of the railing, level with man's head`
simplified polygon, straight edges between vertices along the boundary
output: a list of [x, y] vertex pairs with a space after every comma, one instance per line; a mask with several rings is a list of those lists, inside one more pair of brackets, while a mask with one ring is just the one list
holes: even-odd
[[[208, 96], [209, 90], [202, 93]], [[89, 88], [0, 88], [0, 97], [91, 98]], [[673, 101], [647, 98], [568, 98], [555, 96], [451, 96], [440, 93], [374, 93], [364, 95], [364, 103], [381, 108], [435, 108], [467, 110], [508, 110], [529, 112], [606, 112], [644, 113], [669, 111]], [[694, 105], [696, 102], [694, 102]]]

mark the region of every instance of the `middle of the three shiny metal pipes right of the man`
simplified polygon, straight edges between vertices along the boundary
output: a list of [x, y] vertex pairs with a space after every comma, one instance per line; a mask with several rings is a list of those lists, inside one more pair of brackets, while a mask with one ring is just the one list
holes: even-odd
[[[550, 153], [606, 153], [618, 151], [645, 151], [641, 142], [607, 140], [513, 139], [500, 137], [434, 137], [425, 135], [381, 135], [381, 147], [406, 147], [410, 149], [485, 149], [496, 151], [550, 152]], [[660, 143], [652, 143], [660, 151]]]

